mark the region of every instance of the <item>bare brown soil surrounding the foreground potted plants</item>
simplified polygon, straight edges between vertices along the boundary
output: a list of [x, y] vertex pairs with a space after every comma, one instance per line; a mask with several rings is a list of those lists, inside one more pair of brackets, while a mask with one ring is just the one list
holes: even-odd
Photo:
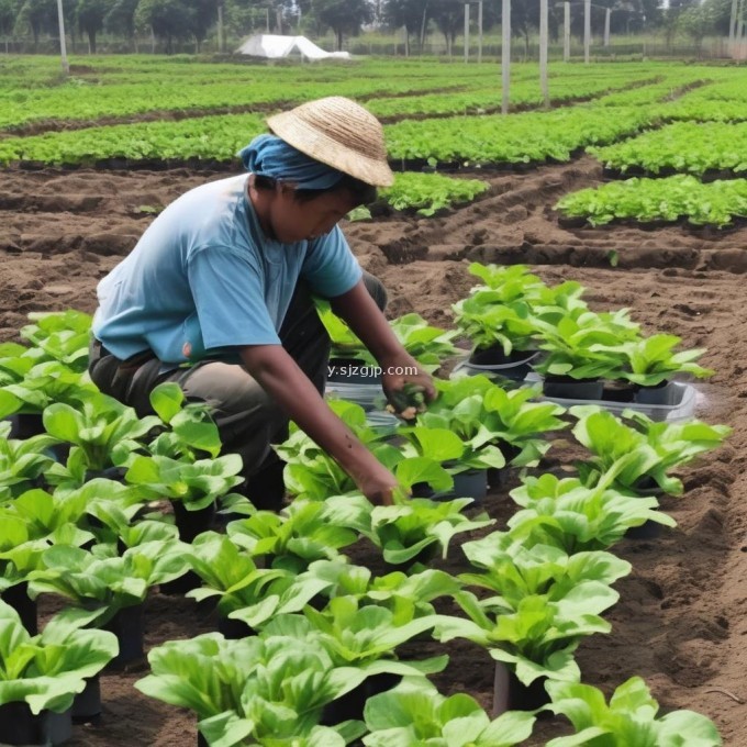
[[[134, 245], [159, 208], [219, 172], [5, 171], [0, 187], [0, 339], [16, 336], [31, 311], [74, 306], [92, 312], [94, 286]], [[525, 175], [480, 171], [492, 190], [481, 201], [437, 219], [392, 216], [346, 226], [364, 267], [386, 282], [389, 311], [417, 311], [450, 323], [449, 305], [472, 282], [471, 260], [527, 263], [548, 281], [580, 280], [599, 309], [629, 306], [649, 331], [678, 334], [706, 346], [705, 365], [717, 374], [699, 384], [698, 414], [735, 428], [728, 445], [684, 475], [685, 495], [665, 501], [676, 529], [615, 548], [634, 571], [617, 583], [621, 601], [609, 615], [613, 631], [579, 649], [584, 681], [610, 692], [633, 674], [651, 687], [662, 709], [690, 707], [712, 717], [724, 740], [747, 746], [747, 312], [744, 279], [747, 228], [690, 231], [684, 226], [564, 230], [557, 198], [598, 182], [601, 170], [582, 158]], [[610, 266], [616, 253], [620, 264]], [[731, 341], [731, 342], [728, 342]], [[548, 468], [565, 460], [562, 443]], [[510, 488], [511, 486], [509, 486]], [[506, 488], [486, 508], [502, 526], [512, 508]], [[458, 545], [458, 543], [457, 543]], [[458, 547], [449, 568], [461, 567]], [[364, 549], [358, 561], [376, 560]], [[377, 564], [378, 565], [378, 564]], [[189, 602], [154, 594], [146, 607], [148, 646], [212, 629]], [[437, 678], [443, 692], [469, 692], [488, 706], [492, 664], [477, 646], [448, 647], [451, 664]], [[132, 687], [142, 672], [107, 674], [104, 717], [77, 726], [73, 747], [191, 747], [190, 714], [150, 701]], [[543, 723], [532, 744], [561, 733]], [[687, 744], [687, 740], [685, 740]]]

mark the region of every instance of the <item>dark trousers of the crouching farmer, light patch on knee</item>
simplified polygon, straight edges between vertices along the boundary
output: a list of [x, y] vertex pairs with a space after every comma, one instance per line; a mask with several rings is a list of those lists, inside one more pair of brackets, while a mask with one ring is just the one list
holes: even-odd
[[[364, 282], [383, 311], [387, 292], [365, 272]], [[309, 290], [299, 285], [279, 332], [280, 342], [299, 368], [324, 393], [330, 337], [319, 319]], [[201, 360], [190, 368], [160, 374], [161, 361], [149, 354], [120, 360], [98, 341], [90, 350], [89, 374], [105, 394], [132, 406], [143, 417], [153, 414], [149, 394], [165, 381], [176, 381], [190, 401], [207, 402], [223, 442], [223, 453], [238, 454], [244, 476], [272, 468], [278, 457], [271, 444], [288, 437], [288, 416], [241, 364]]]

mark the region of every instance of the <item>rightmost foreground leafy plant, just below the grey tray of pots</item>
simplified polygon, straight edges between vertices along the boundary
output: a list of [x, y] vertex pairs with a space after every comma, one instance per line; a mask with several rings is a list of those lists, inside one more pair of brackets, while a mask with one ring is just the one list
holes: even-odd
[[633, 411], [623, 412], [632, 425], [593, 406], [573, 408], [571, 412], [579, 417], [573, 435], [592, 454], [590, 460], [578, 464], [584, 484], [633, 492], [650, 479], [664, 492], [680, 495], [682, 482], [669, 471], [721, 446], [732, 432], [726, 425], [700, 421], [655, 423]]

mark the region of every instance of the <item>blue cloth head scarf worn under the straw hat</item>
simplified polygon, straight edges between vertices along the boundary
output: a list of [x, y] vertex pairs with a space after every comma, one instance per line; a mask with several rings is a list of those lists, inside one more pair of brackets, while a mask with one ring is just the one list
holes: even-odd
[[257, 135], [238, 155], [247, 171], [292, 181], [300, 189], [330, 189], [344, 176], [342, 171], [314, 160], [276, 135]]

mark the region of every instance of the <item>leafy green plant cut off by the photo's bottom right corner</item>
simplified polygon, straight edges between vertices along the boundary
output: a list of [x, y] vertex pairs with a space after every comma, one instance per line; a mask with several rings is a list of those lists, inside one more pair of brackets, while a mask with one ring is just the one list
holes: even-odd
[[720, 747], [715, 724], [693, 711], [658, 717], [659, 704], [639, 677], [623, 682], [606, 703], [597, 688], [580, 682], [548, 682], [548, 710], [566, 716], [576, 734], [557, 737], [547, 747]]

